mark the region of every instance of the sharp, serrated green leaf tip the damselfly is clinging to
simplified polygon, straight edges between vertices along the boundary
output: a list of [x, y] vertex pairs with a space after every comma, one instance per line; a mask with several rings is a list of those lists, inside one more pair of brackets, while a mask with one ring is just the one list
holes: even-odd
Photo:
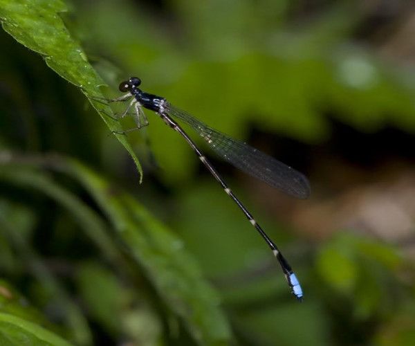
[[65, 3], [60, 0], [0, 0], [3, 29], [19, 43], [41, 54], [50, 69], [62, 78], [82, 88], [102, 120], [133, 158], [141, 181], [142, 168], [127, 137], [116, 134], [122, 131], [120, 122], [113, 116], [110, 107], [94, 99], [104, 98], [98, 89], [104, 82], [89, 64], [80, 44], [66, 29], [59, 15], [66, 11]]

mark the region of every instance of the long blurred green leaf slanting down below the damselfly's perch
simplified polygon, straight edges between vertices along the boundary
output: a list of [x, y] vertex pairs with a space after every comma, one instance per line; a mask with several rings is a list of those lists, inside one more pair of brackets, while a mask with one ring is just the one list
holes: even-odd
[[77, 161], [68, 161], [68, 165], [107, 213], [133, 259], [145, 268], [158, 295], [183, 318], [194, 338], [202, 345], [226, 343], [230, 326], [219, 307], [219, 298], [203, 279], [195, 260], [183, 249], [181, 239], [129, 194], [115, 193], [107, 181]]

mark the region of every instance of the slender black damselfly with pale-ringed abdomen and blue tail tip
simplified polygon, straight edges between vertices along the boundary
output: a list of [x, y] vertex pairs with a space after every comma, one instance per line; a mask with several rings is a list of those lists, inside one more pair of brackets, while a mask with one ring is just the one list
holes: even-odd
[[[129, 80], [122, 82], [119, 86], [120, 91], [126, 93], [119, 98], [109, 100], [109, 102], [120, 102], [120, 101], [129, 101], [127, 109], [122, 113], [121, 117], [131, 114], [129, 111], [133, 109], [133, 119], [136, 122], [136, 129], [140, 127], [147, 126], [148, 121], [145, 117], [145, 114], [142, 111], [142, 107], [155, 111], [164, 122], [177, 131], [186, 142], [192, 147], [197, 156], [199, 156], [200, 161], [203, 165], [208, 168], [209, 172], [214, 176], [214, 179], [221, 184], [221, 187], [225, 192], [232, 198], [232, 200], [237, 203], [237, 206], [242, 210], [243, 214], [250, 221], [250, 224], [255, 227], [261, 237], [264, 238], [268, 246], [273, 251], [275, 257], [284, 272], [288, 285], [291, 287], [292, 293], [297, 297], [298, 300], [302, 299], [303, 293], [302, 288], [299, 285], [297, 277], [293, 270], [288, 264], [285, 257], [277, 248], [277, 245], [268, 237], [264, 230], [259, 226], [254, 217], [250, 212], [243, 206], [241, 201], [237, 199], [234, 193], [228, 188], [228, 185], [221, 178], [216, 169], [212, 166], [212, 163], [206, 158], [201, 150], [196, 146], [194, 141], [187, 136], [185, 131], [181, 128], [180, 125], [174, 119], [181, 120], [187, 125], [190, 125], [196, 132], [208, 143], [208, 145], [219, 154], [221, 158], [225, 161], [228, 161], [235, 167], [239, 168], [243, 172], [255, 176], [255, 178], [265, 181], [274, 188], [278, 188], [287, 194], [291, 194], [293, 197], [299, 199], [305, 199], [310, 194], [310, 185], [306, 177], [289, 167], [277, 161], [275, 158], [260, 152], [259, 150], [250, 147], [246, 143], [240, 142], [239, 140], [234, 140], [229, 136], [212, 129], [208, 125], [205, 125], [200, 120], [197, 120], [189, 113], [178, 109], [170, 102], [167, 102], [165, 98], [161, 98], [157, 95], [151, 95], [150, 93], [145, 93], [141, 91], [138, 86], [140, 86], [141, 80], [136, 77], [131, 77]], [[133, 130], [133, 129], [132, 129]], [[131, 131], [131, 130], [127, 130]]]

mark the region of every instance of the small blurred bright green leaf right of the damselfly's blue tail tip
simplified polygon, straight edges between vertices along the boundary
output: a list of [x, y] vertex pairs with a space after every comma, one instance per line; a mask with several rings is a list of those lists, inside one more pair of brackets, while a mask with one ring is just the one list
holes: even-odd
[[358, 302], [355, 316], [366, 318], [380, 307], [380, 302], [391, 299], [402, 263], [391, 245], [338, 233], [321, 246], [317, 270], [326, 284]]

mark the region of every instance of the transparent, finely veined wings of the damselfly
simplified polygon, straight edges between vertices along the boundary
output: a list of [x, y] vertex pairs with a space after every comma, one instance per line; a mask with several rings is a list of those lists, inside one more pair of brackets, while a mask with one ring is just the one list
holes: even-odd
[[212, 129], [172, 104], [166, 102], [165, 111], [190, 125], [205, 139], [216, 154], [239, 170], [261, 179], [293, 197], [306, 199], [309, 196], [310, 184], [300, 172], [246, 143]]

